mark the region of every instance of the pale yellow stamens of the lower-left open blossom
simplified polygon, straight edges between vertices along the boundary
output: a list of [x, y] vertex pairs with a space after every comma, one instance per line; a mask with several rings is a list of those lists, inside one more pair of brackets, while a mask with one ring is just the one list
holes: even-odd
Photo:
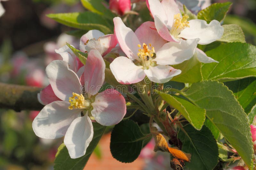
[[78, 95], [77, 93], [72, 93], [72, 97], [69, 97], [70, 106], [69, 110], [72, 109], [89, 109], [91, 107], [91, 100], [84, 99], [83, 94]]

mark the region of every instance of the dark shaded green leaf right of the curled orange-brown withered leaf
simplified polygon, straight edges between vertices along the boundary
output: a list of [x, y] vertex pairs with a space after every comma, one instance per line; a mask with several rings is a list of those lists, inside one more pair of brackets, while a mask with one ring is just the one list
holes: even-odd
[[200, 131], [190, 124], [179, 131], [178, 138], [182, 142], [182, 151], [191, 153], [191, 162], [186, 163], [189, 169], [213, 169], [218, 163], [218, 146], [211, 131], [203, 126]]

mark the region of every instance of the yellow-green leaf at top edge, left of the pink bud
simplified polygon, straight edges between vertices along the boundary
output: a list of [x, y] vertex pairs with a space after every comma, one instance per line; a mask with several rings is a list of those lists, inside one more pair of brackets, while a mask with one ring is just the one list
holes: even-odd
[[116, 17], [108, 8], [105, 7], [108, 6], [108, 3], [104, 0], [81, 0], [81, 3], [83, 4], [84, 8], [89, 11], [104, 15], [110, 19]]

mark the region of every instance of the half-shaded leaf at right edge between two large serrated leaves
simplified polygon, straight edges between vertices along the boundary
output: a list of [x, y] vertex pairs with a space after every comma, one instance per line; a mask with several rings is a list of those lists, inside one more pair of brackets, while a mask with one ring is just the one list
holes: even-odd
[[229, 81], [225, 83], [228, 86], [228, 89], [232, 90], [236, 99], [244, 108], [244, 111], [247, 115], [250, 113], [250, 122], [255, 115], [253, 115], [252, 110], [256, 104], [256, 78], [249, 77], [236, 81]]

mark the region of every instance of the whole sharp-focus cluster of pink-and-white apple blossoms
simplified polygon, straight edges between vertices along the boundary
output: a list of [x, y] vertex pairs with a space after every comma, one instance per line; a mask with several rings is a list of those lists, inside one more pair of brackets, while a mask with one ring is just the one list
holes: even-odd
[[65, 136], [70, 157], [78, 158], [92, 141], [92, 120], [109, 126], [123, 119], [124, 97], [115, 89], [100, 91], [108, 53], [119, 54], [109, 67], [121, 84], [137, 83], [146, 76], [152, 82], [165, 83], [182, 73], [170, 65], [192, 57], [204, 63], [218, 62], [196, 48], [197, 44], [220, 39], [223, 28], [218, 21], [188, 21], [174, 0], [147, 0], [147, 4], [155, 22], [145, 22], [135, 32], [116, 17], [115, 34], [91, 30], [83, 35], [80, 51], [88, 53], [85, 65], [68, 46], [55, 50], [63, 60], [54, 60], [46, 67], [50, 85], [38, 94], [45, 107], [33, 121], [37, 136]]

